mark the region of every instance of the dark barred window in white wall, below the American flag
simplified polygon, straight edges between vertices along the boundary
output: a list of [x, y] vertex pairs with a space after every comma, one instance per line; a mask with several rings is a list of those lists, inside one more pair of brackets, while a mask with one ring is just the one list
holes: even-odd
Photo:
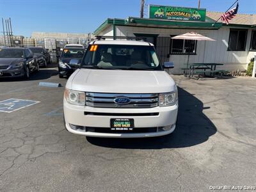
[[246, 29], [230, 29], [228, 51], [245, 51], [246, 38]]

